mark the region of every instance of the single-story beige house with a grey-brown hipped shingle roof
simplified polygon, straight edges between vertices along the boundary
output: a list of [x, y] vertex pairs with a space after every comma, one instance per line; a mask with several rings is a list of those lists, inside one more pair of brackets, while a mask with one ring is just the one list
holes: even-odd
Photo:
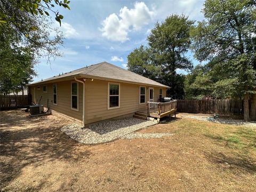
[[108, 62], [42, 79], [28, 87], [32, 101], [42, 97], [41, 104], [46, 107], [48, 101], [52, 114], [84, 125], [147, 111], [147, 102], [158, 102], [170, 88]]

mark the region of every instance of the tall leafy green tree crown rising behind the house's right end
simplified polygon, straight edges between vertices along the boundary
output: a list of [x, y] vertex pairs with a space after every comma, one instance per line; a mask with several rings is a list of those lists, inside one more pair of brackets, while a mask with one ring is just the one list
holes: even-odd
[[185, 15], [173, 14], [164, 22], [157, 22], [151, 30], [148, 44], [156, 62], [164, 66], [165, 73], [174, 73], [175, 69], [191, 69], [192, 63], [185, 54], [191, 43], [189, 31], [193, 23]]

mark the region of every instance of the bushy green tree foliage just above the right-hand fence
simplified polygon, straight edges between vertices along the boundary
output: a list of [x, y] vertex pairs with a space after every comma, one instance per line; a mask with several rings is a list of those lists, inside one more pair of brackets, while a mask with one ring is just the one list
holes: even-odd
[[227, 78], [230, 75], [228, 68], [222, 63], [211, 66], [197, 65], [191, 73], [186, 75], [185, 94], [186, 99], [215, 99], [239, 98], [236, 91], [236, 78]]

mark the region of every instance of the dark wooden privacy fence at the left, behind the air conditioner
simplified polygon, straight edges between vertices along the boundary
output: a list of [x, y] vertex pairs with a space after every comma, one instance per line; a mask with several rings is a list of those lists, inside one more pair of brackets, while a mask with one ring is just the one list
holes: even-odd
[[17, 109], [31, 105], [31, 95], [0, 95], [0, 109]]

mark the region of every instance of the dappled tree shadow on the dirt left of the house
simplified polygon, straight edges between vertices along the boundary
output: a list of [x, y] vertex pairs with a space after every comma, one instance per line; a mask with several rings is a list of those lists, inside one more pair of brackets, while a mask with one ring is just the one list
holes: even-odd
[[19, 177], [27, 165], [36, 167], [55, 159], [77, 162], [81, 157], [90, 158], [91, 151], [79, 148], [80, 143], [60, 131], [62, 126], [63, 122], [50, 121], [46, 116], [31, 118], [23, 111], [1, 112], [0, 188]]

